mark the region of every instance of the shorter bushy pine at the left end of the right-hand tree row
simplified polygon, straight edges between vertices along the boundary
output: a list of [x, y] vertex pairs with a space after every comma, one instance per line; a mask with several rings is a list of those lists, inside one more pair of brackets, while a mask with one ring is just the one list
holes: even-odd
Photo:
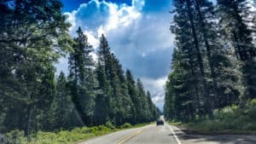
[[193, 93], [195, 86], [192, 85], [193, 76], [188, 71], [188, 66], [182, 53], [174, 50], [172, 73], [166, 82], [166, 118], [188, 120], [195, 116], [195, 111], [201, 114], [201, 107], [195, 107], [199, 103], [195, 97], [198, 94]]

